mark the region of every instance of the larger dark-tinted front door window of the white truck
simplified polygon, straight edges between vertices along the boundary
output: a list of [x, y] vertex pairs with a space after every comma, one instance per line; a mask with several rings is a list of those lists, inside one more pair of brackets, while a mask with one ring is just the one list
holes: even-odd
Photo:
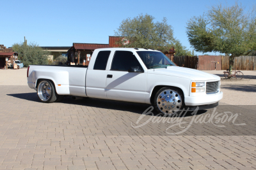
[[111, 70], [128, 71], [128, 69], [131, 67], [138, 68], [141, 71], [143, 70], [140, 62], [136, 59], [132, 52], [116, 51], [113, 57]]

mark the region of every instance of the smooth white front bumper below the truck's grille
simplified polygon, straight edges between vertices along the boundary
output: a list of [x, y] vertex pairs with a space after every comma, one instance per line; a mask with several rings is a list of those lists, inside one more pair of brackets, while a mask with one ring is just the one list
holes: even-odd
[[218, 103], [223, 97], [223, 92], [216, 94], [205, 94], [205, 96], [185, 96], [186, 106], [200, 106]]

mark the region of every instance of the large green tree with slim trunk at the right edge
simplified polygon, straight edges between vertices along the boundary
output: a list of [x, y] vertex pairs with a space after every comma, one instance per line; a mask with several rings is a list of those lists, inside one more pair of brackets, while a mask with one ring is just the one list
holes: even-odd
[[217, 5], [187, 23], [189, 43], [197, 52], [220, 52], [230, 55], [229, 70], [234, 57], [249, 55], [256, 50], [255, 10], [246, 13], [241, 4]]

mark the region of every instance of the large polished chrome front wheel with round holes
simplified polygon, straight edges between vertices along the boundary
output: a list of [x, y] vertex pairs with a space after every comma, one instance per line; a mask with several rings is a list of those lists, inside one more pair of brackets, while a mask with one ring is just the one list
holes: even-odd
[[182, 107], [182, 97], [175, 90], [163, 90], [157, 96], [157, 107], [162, 113], [176, 113]]

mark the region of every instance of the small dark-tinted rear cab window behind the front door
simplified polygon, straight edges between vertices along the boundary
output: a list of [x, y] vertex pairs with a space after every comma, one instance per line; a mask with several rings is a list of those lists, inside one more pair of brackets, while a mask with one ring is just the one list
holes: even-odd
[[108, 57], [111, 51], [101, 51], [98, 53], [97, 58], [95, 60], [95, 64], [93, 69], [106, 70], [106, 66], [108, 63]]

